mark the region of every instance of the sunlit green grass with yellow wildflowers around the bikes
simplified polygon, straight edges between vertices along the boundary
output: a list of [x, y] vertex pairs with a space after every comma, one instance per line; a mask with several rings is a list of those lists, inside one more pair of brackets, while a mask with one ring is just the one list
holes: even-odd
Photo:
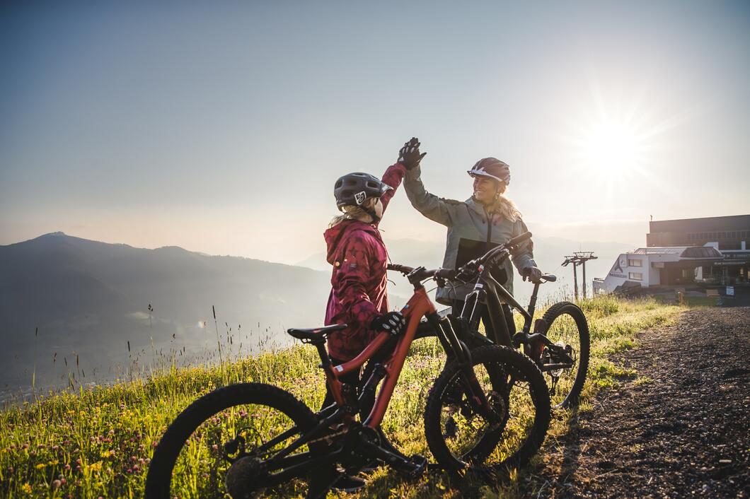
[[[582, 410], [602, 387], [635, 373], [607, 356], [633, 348], [639, 330], [673, 321], [684, 308], [654, 300], [583, 300], [592, 334], [589, 381]], [[541, 310], [538, 316], [541, 316]], [[257, 381], [290, 390], [312, 408], [323, 401], [323, 375], [314, 348], [296, 346], [226, 362], [223, 366], [165, 369], [149, 378], [109, 387], [58, 393], [0, 412], [0, 496], [35, 498], [142, 497], [153, 447], [175, 416], [196, 397], [229, 383]], [[383, 427], [406, 453], [428, 453], [422, 410], [443, 364], [431, 339], [413, 345]], [[645, 380], [644, 380], [645, 382]], [[553, 417], [546, 445], [568, 431], [567, 411]], [[541, 450], [544, 453], [544, 449]], [[499, 489], [455, 483], [448, 477], [404, 482], [380, 468], [363, 497], [514, 497], [523, 471]], [[343, 496], [343, 495], [342, 495]]]

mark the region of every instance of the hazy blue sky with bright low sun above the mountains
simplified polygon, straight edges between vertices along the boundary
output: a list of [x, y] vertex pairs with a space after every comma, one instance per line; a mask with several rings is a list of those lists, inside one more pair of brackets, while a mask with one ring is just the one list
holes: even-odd
[[[0, 67], [0, 244], [294, 263], [411, 136], [440, 196], [509, 163], [538, 235], [750, 213], [747, 1], [5, 1]], [[445, 235], [403, 193], [382, 229]]]

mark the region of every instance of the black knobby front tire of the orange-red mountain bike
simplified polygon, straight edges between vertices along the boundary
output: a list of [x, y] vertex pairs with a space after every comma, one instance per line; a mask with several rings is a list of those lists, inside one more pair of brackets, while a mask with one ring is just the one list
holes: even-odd
[[[513, 348], [499, 345], [489, 345], [476, 348], [471, 351], [472, 369], [480, 364], [496, 363], [502, 366], [506, 372], [515, 373], [522, 376], [528, 383], [529, 394], [534, 406], [535, 414], [533, 423], [526, 436], [523, 444], [502, 461], [492, 465], [483, 465], [484, 460], [490, 456], [495, 448], [499, 445], [499, 437], [503, 435], [485, 434], [475, 447], [472, 447], [460, 456], [457, 456], [449, 449], [446, 443], [446, 435], [443, 435], [443, 428], [440, 422], [443, 413], [443, 403], [446, 394], [451, 385], [460, 377], [460, 367], [457, 363], [449, 363], [443, 372], [435, 381], [435, 384], [428, 397], [427, 407], [425, 408], [425, 435], [427, 437], [428, 447], [434, 458], [449, 470], [460, 470], [472, 466], [483, 466], [492, 471], [508, 471], [511, 468], [518, 468], [526, 465], [529, 459], [539, 450], [547, 435], [547, 429], [550, 424], [550, 398], [547, 391], [547, 384], [541, 375], [536, 364]], [[487, 369], [489, 372], [489, 369]], [[490, 374], [491, 375], [491, 374]], [[511, 374], [512, 375], [512, 374]], [[493, 387], [496, 384], [493, 380]], [[507, 421], [507, 420], [506, 420]], [[505, 432], [505, 423], [503, 423], [502, 432]]]

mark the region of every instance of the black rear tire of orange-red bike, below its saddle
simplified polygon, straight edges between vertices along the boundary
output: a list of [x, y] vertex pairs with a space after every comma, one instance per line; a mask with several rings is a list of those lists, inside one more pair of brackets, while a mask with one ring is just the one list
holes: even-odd
[[[154, 449], [145, 480], [145, 498], [175, 497], [170, 493], [172, 471], [188, 438], [202, 423], [215, 417], [221, 411], [248, 404], [264, 405], [280, 411], [295, 423], [300, 432], [312, 429], [317, 424], [315, 415], [307, 405], [291, 393], [269, 384], [232, 384], [207, 393], [175, 418]], [[308, 498], [317, 497], [317, 495], [311, 495], [311, 491], [320, 489], [320, 480], [325, 480], [325, 474], [311, 473], [309, 475]]]

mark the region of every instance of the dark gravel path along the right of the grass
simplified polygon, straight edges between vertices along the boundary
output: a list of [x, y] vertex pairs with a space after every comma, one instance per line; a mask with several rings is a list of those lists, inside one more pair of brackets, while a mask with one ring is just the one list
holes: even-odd
[[750, 497], [750, 308], [691, 310], [638, 341], [613, 359], [637, 378], [571, 422], [529, 496]]

